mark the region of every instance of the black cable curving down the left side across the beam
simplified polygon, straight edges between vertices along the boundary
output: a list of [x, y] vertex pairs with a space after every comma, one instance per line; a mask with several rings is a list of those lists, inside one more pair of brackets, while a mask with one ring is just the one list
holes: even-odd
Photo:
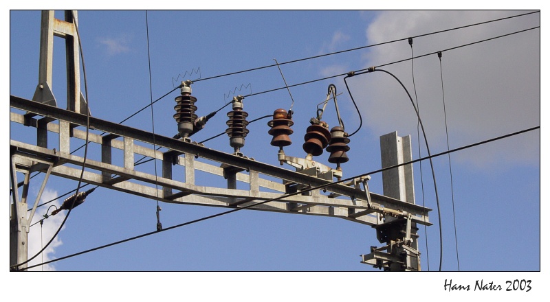
[[[88, 140], [89, 140], [88, 135], [89, 135], [89, 128], [90, 128], [90, 119], [89, 119], [90, 115], [89, 115], [88, 84], [87, 84], [87, 79], [86, 79], [86, 65], [85, 65], [85, 62], [84, 62], [83, 47], [82, 47], [82, 42], [80, 41], [80, 32], [78, 32], [78, 25], [76, 24], [76, 19], [74, 18], [74, 12], [73, 11], [71, 11], [71, 16], [72, 16], [74, 28], [76, 30], [76, 37], [78, 38], [78, 48], [80, 50], [80, 58], [82, 58], [82, 69], [83, 69], [83, 75], [84, 75], [84, 89], [85, 89], [85, 95], [86, 95], [86, 143], [84, 145], [85, 148], [84, 148], [84, 159], [83, 159], [83, 164], [82, 164], [82, 170], [80, 170], [80, 177], [78, 178], [78, 185], [76, 186], [75, 196], [78, 196], [78, 190], [80, 190], [80, 184], [82, 183], [82, 179], [83, 179], [83, 176], [84, 176], [84, 170], [85, 170], [85, 167], [86, 167], [86, 158], [87, 158], [87, 153], [88, 153]], [[76, 87], [76, 89], [78, 89], [78, 87]], [[78, 109], [79, 108], [76, 108], [76, 106], [75, 106], [74, 110], [76, 111]], [[52, 242], [54, 241], [57, 234], [63, 228], [63, 225], [65, 225], [65, 222], [67, 221], [67, 218], [69, 218], [69, 214], [71, 213], [71, 211], [74, 207], [74, 202], [76, 202], [76, 198], [74, 198], [74, 200], [72, 201], [71, 207], [69, 208], [69, 211], [67, 211], [67, 215], [65, 215], [65, 218], [63, 219], [63, 222], [61, 222], [61, 226], [59, 226], [58, 230], [52, 236], [52, 239], [50, 239], [50, 241], [47, 242], [46, 246], [43, 246], [43, 248], [38, 253], [36, 253], [36, 255], [30, 257], [30, 259], [27, 259], [26, 261], [21, 262], [20, 264], [15, 264], [12, 267], [12, 268], [14, 268], [14, 270], [19, 270], [19, 266], [22, 266], [24, 264], [27, 264], [27, 263], [31, 262], [32, 259], [34, 259], [38, 255], [40, 255], [48, 246], [50, 246], [50, 244], [52, 244]], [[27, 269], [28, 268], [24, 268], [24, 270], [27, 270]]]

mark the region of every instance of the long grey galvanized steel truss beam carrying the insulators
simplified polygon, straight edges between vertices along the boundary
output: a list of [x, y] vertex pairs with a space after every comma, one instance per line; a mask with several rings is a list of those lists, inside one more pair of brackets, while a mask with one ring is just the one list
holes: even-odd
[[[80, 177], [80, 168], [69, 167], [69, 164], [82, 167], [84, 159], [82, 156], [70, 154], [69, 139], [71, 137], [85, 139], [86, 132], [75, 127], [87, 124], [86, 115], [13, 95], [10, 95], [10, 106], [32, 113], [32, 116], [25, 116], [11, 112], [10, 120], [32, 128], [36, 127], [37, 133], [36, 145], [10, 140], [10, 153], [14, 156], [17, 168], [30, 170], [36, 167], [34, 165], [36, 162], [45, 163], [44, 167], [53, 166], [51, 172], [53, 175], [77, 180]], [[34, 115], [45, 118], [37, 120], [33, 117]], [[144, 143], [153, 146], [151, 132], [95, 117], [89, 117], [89, 124], [91, 129], [102, 130], [107, 132], [107, 135], [89, 133], [89, 142], [100, 144], [102, 152], [101, 158], [94, 158], [93, 156], [97, 154], [91, 154], [86, 159], [83, 181], [137, 196], [152, 199], [158, 196], [159, 200], [171, 203], [236, 208], [281, 197], [289, 192], [288, 184], [317, 187], [331, 183], [325, 179], [260, 163], [246, 157], [212, 150], [197, 143], [154, 135], [155, 146], [168, 149], [166, 152], [161, 152], [142, 146]], [[47, 148], [46, 130], [58, 134], [57, 149]], [[113, 149], [123, 150], [123, 165], [115, 165], [111, 162]], [[162, 161], [162, 176], [155, 177], [154, 174], [136, 170], [139, 167], [134, 163], [137, 155]], [[185, 181], [176, 181], [172, 178], [174, 165], [184, 167]], [[223, 187], [196, 185], [195, 172], [197, 171], [219, 176], [220, 181], [224, 183]], [[261, 175], [276, 178], [281, 182], [261, 178]], [[247, 183], [250, 189], [236, 189], [235, 181]], [[159, 185], [159, 189], [155, 188], [155, 183]], [[330, 185], [324, 188], [327, 195], [322, 194], [320, 190], [314, 190], [311, 194], [304, 193], [281, 198], [249, 209], [332, 216], [371, 226], [380, 222], [379, 213], [376, 211], [381, 212], [381, 209], [384, 209], [384, 211], [396, 213], [410, 213], [413, 222], [431, 225], [428, 220], [428, 212], [431, 209], [374, 193], [370, 194], [369, 203], [358, 183], [358, 181], [352, 181], [349, 185]], [[342, 198], [333, 198], [334, 196], [342, 196]]]

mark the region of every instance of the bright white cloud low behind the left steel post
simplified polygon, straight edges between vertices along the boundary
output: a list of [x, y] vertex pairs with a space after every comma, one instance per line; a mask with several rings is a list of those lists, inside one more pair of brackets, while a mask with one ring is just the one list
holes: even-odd
[[[40, 203], [50, 201], [58, 196], [56, 191], [52, 191], [50, 189], [44, 189]], [[34, 202], [34, 199], [36, 198], [36, 195], [34, 198], [30, 199], [32, 202]], [[30, 201], [31, 202], [31, 201]], [[60, 202], [58, 200], [55, 200], [54, 202], [50, 202], [48, 205], [45, 205], [43, 207], [39, 207], [36, 209], [36, 213], [34, 213], [34, 216], [32, 218], [31, 224], [34, 224], [36, 222], [39, 222], [41, 219], [43, 219], [44, 214], [46, 213], [47, 209], [51, 207], [52, 205], [55, 205], [56, 207], [59, 207]], [[48, 211], [48, 215], [52, 213], [54, 208], [50, 209]], [[29, 258], [33, 257], [38, 253], [47, 242], [50, 241], [50, 239], [54, 236], [56, 231], [61, 226], [61, 222], [63, 222], [63, 219], [65, 218], [65, 211], [59, 212], [56, 216], [50, 216], [49, 218], [43, 220], [43, 224], [40, 223], [35, 224], [33, 227], [30, 228], [29, 232], [29, 250], [28, 255]], [[58, 246], [61, 246], [63, 242], [59, 239], [59, 237], [55, 237], [52, 243], [43, 251], [41, 255], [38, 255], [36, 258], [32, 259], [32, 261], [29, 262], [28, 266], [33, 266], [36, 264], [41, 264], [43, 262], [50, 261], [54, 259], [53, 255], [55, 253], [55, 249]], [[36, 266], [36, 268], [30, 268], [29, 270], [55, 270], [54, 265], [52, 264], [45, 264], [44, 266]]]

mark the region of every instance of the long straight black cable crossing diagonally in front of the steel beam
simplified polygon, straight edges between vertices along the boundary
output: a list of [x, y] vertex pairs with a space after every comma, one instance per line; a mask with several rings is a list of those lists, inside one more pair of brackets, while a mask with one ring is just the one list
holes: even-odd
[[[78, 255], [83, 255], [85, 253], [90, 253], [90, 252], [93, 252], [93, 251], [98, 251], [102, 248], [107, 248], [109, 246], [113, 246], [113, 245], [116, 245], [116, 244], [121, 244], [121, 243], [124, 243], [124, 242], [129, 242], [131, 240], [135, 240], [135, 239], [139, 239], [139, 238], [142, 238], [142, 237], [146, 237], [148, 235], [153, 235], [153, 234], [157, 234], [157, 233], [160, 233], [160, 232], [164, 232], [164, 231], [168, 231], [168, 230], [171, 230], [171, 229], [176, 229], [178, 227], [184, 227], [188, 224], [193, 224], [195, 222], [201, 222], [203, 220], [208, 220], [210, 218], [215, 218], [215, 217], [218, 217], [218, 216], [222, 216], [222, 215], [225, 215], [225, 214], [228, 214], [228, 213], [233, 213], [235, 211], [241, 211], [243, 209], [249, 209], [251, 207], [254, 207], [256, 205], [263, 205], [267, 202], [272, 202], [272, 201], [276, 201], [276, 200], [279, 200], [279, 199], [283, 199], [283, 198], [287, 198], [287, 197], [290, 197], [290, 196], [295, 196], [295, 195], [298, 195], [298, 194], [302, 194], [302, 193], [305, 193], [305, 192], [308, 192], [308, 191], [313, 191], [313, 190], [316, 190], [316, 189], [322, 189], [324, 187], [329, 187], [331, 185], [336, 185], [338, 183], [344, 183], [346, 181], [351, 181], [352, 179], [354, 178], [360, 178], [362, 176], [367, 176], [367, 175], [372, 175], [372, 174], [377, 174], [377, 173], [380, 173], [380, 172], [384, 172], [386, 170], [391, 170], [391, 169], [395, 169], [397, 167], [401, 167], [401, 166], [404, 166], [404, 165], [410, 165], [412, 163], [417, 163], [419, 161], [424, 161], [426, 159], [433, 159], [434, 157], [437, 157], [437, 156], [441, 156], [441, 155], [445, 155], [445, 154], [450, 154], [452, 152], [458, 152], [460, 150], [465, 150], [465, 149], [468, 149], [468, 148], [473, 148], [475, 146], [480, 146], [480, 145], [483, 145], [485, 143], [490, 143], [492, 141], [498, 141], [500, 139], [505, 139], [507, 137], [512, 137], [514, 135], [520, 135], [522, 133], [525, 133], [525, 132], [529, 132], [529, 131], [533, 131], [533, 130], [536, 130], [536, 129], [540, 129], [540, 126], [536, 126], [536, 127], [532, 127], [532, 128], [528, 128], [528, 129], [525, 129], [525, 130], [520, 130], [520, 131], [517, 131], [517, 132], [512, 132], [512, 133], [509, 133], [507, 135], [502, 135], [500, 137], [494, 137], [492, 139], [487, 139], [485, 141], [478, 141], [477, 143], [472, 143], [470, 145], [465, 145], [465, 146], [462, 146], [462, 147], [459, 147], [459, 148], [454, 148], [452, 150], [447, 150], [447, 151], [444, 151], [444, 152], [440, 152], [440, 153], [437, 153], [437, 154], [433, 154], [433, 155], [430, 155], [430, 156], [425, 156], [423, 158], [420, 158], [420, 159], [414, 159], [412, 161], [407, 161], [405, 163], [399, 163], [397, 165], [392, 165], [390, 167], [384, 167], [382, 169], [379, 169], [379, 170], [374, 170], [372, 172], [368, 172], [368, 173], [364, 173], [364, 174], [360, 174], [358, 176], [353, 176], [353, 177], [350, 177], [350, 178], [346, 178], [346, 179], [342, 179], [340, 181], [335, 181], [333, 183], [327, 183], [325, 185], [320, 185], [318, 187], [311, 187], [309, 189], [304, 189], [303, 191], [296, 191], [294, 193], [290, 193], [290, 194], [284, 194], [283, 196], [279, 196], [279, 197], [276, 197], [276, 198], [272, 198], [272, 199], [269, 199], [269, 200], [264, 200], [262, 202], [258, 202], [254, 205], [248, 205], [248, 206], [245, 206], [245, 207], [240, 207], [240, 208], [237, 208], [237, 209], [232, 209], [230, 211], [225, 211], [223, 213], [218, 213], [218, 214], [214, 214], [212, 216], [207, 216], [207, 217], [204, 217], [204, 218], [199, 218], [197, 220], [191, 220], [189, 222], [184, 222], [184, 223], [181, 223], [181, 224], [176, 224], [172, 227], [168, 227], [168, 228], [165, 228], [165, 229], [162, 229], [162, 231], [154, 231], [154, 232], [149, 232], [149, 233], [144, 233], [142, 235], [137, 235], [137, 236], [134, 236], [134, 237], [130, 237], [130, 238], [126, 238], [125, 240], [120, 240], [118, 242], [112, 242], [110, 244], [105, 244], [103, 246], [98, 246], [96, 248], [91, 248], [89, 250], [86, 250], [86, 251], [81, 251], [79, 253], [74, 253], [72, 255], [67, 255], [67, 256], [64, 256], [64, 257], [60, 257], [60, 258], [57, 258], [57, 259], [53, 259], [53, 260], [50, 260], [48, 262], [44, 262], [42, 264], [37, 264], [35, 266], [41, 266], [41, 265], [44, 265], [44, 264], [50, 264], [52, 262], [57, 262], [59, 260], [63, 260], [63, 259], [67, 259], [67, 258], [71, 258], [71, 257], [75, 257], [75, 256], [78, 256]], [[29, 266], [28, 268], [34, 268], [35, 266]]]

